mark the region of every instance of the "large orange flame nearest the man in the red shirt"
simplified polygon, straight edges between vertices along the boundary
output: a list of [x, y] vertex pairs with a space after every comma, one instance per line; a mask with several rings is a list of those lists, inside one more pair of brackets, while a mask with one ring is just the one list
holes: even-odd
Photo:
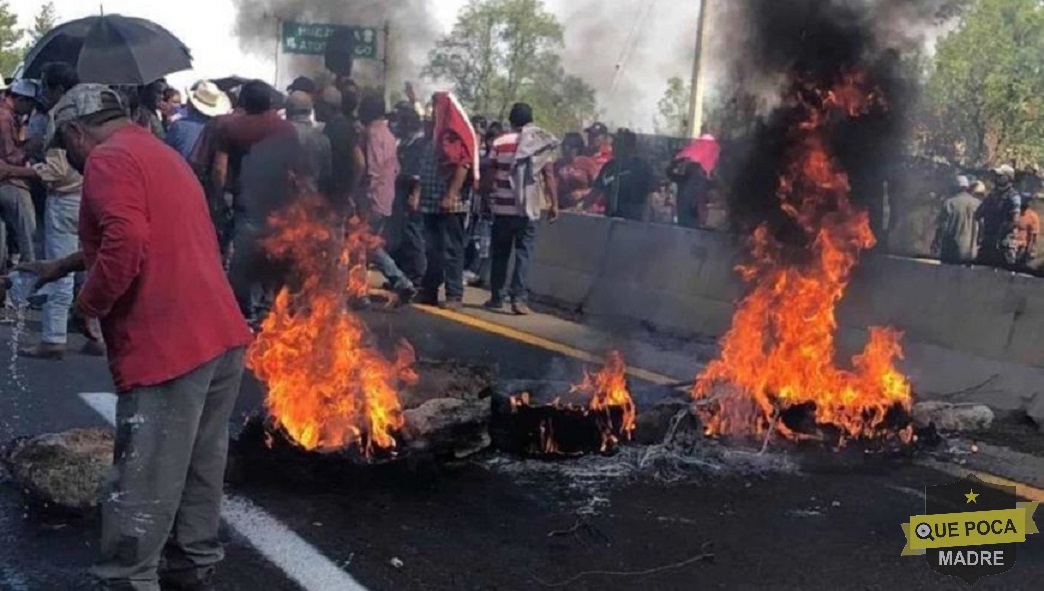
[[303, 197], [268, 220], [268, 255], [293, 266], [247, 353], [267, 385], [265, 407], [302, 448], [336, 451], [358, 445], [393, 449], [403, 426], [398, 386], [417, 380], [413, 351], [402, 341], [395, 359], [371, 345], [347, 306], [366, 292], [366, 253], [379, 241], [358, 219], [338, 228], [319, 197]]

